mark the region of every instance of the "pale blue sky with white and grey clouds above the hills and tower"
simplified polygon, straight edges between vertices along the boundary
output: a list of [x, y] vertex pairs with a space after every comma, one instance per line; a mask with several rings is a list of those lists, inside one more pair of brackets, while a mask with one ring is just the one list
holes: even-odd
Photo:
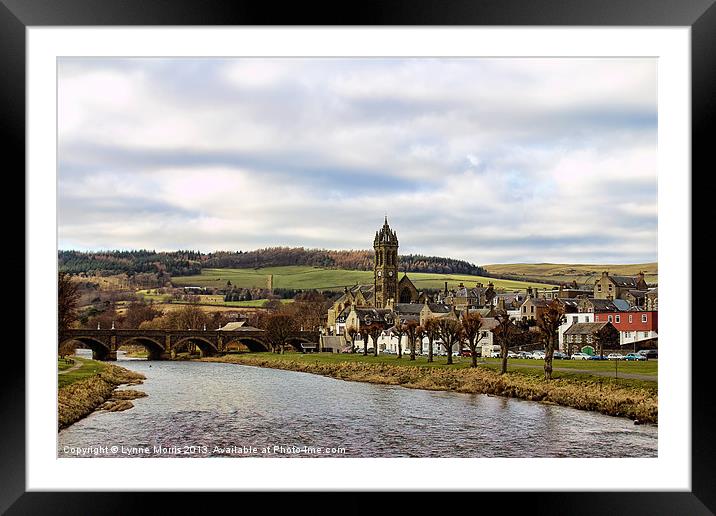
[[653, 59], [63, 59], [61, 249], [657, 252]]

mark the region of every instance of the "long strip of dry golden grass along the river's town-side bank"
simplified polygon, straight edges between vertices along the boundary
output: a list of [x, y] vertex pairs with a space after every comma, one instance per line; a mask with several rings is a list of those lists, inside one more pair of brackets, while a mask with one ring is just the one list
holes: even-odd
[[245, 353], [202, 360], [286, 369], [414, 389], [494, 394], [593, 410], [641, 422], [656, 423], [658, 419], [656, 382], [564, 372], [556, 373], [551, 381], [545, 381], [539, 370], [517, 368], [500, 375], [491, 363], [475, 369], [468, 367], [469, 359], [452, 366], [445, 365], [444, 360], [428, 363], [424, 359], [412, 362], [407, 357], [398, 360], [386, 355], [363, 357], [327, 353]]

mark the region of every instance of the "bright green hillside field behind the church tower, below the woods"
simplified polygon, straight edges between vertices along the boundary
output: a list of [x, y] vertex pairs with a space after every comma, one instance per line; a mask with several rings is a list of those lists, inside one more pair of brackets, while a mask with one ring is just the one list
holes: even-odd
[[[200, 275], [174, 277], [172, 278], [172, 283], [177, 286], [216, 288], [226, 287], [226, 282], [231, 281], [232, 285], [240, 288], [266, 288], [270, 275], [273, 275], [274, 288], [286, 289], [342, 290], [343, 287], [351, 287], [356, 284], [370, 285], [373, 283], [372, 271], [349, 271], [304, 266], [267, 267], [262, 269], [204, 269]], [[400, 277], [402, 277], [402, 273]], [[542, 283], [492, 279], [463, 274], [411, 272], [408, 277], [418, 290], [443, 288], [446, 281], [449, 288], [456, 287], [460, 282], [463, 282], [468, 287], [474, 287], [477, 282], [487, 285], [492, 281], [496, 289], [504, 288], [508, 291], [525, 289], [528, 286], [539, 288], [550, 286]]]

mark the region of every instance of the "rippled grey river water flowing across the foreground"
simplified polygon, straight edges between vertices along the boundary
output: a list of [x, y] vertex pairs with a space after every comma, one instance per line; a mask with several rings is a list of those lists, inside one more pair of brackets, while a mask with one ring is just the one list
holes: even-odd
[[59, 457], [656, 457], [657, 427], [484, 394], [236, 364], [128, 360], [148, 394], [62, 430]]

